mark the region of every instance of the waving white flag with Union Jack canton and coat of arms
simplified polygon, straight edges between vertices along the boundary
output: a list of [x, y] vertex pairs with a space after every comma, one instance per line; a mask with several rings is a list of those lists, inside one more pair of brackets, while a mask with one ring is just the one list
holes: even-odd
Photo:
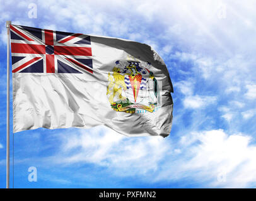
[[172, 82], [151, 46], [119, 38], [10, 26], [13, 133], [105, 125], [168, 136]]

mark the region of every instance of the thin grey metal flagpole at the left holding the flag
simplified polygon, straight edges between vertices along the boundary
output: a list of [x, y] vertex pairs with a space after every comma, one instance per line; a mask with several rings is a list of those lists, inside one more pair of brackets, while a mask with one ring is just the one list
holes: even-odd
[[7, 29], [7, 96], [6, 96], [6, 188], [9, 188], [9, 32], [11, 21], [6, 21]]

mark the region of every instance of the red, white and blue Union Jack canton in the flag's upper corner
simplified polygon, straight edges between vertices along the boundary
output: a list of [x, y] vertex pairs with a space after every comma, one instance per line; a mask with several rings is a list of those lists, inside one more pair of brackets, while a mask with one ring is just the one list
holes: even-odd
[[91, 38], [11, 25], [13, 73], [93, 73]]

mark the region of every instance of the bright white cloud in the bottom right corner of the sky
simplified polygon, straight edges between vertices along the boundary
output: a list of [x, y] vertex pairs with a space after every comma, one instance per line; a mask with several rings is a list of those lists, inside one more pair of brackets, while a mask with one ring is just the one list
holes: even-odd
[[[229, 136], [223, 130], [187, 134], [180, 141], [182, 154], [168, 161], [163, 166], [169, 166], [168, 170], [162, 171], [156, 180], [192, 178], [207, 182], [204, 187], [250, 187], [256, 180], [256, 146], [250, 145], [250, 140], [242, 134]], [[219, 181], [222, 174], [226, 182]]]

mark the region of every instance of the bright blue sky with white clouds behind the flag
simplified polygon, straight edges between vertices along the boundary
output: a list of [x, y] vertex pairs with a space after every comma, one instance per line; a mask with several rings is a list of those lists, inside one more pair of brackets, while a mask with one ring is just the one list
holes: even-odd
[[[0, 188], [6, 186], [7, 20], [151, 45], [174, 88], [167, 138], [128, 138], [104, 126], [11, 133], [11, 187], [255, 188], [255, 8], [248, 0], [0, 0]], [[37, 182], [28, 180], [32, 166]]]

